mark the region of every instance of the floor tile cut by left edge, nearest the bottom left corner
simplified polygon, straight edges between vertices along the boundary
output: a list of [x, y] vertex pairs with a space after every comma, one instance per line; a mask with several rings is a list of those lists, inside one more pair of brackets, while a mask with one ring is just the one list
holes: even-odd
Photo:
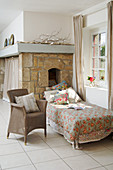
[[2, 169], [13, 168], [18, 166], [30, 165], [31, 161], [25, 153], [0, 156]]

